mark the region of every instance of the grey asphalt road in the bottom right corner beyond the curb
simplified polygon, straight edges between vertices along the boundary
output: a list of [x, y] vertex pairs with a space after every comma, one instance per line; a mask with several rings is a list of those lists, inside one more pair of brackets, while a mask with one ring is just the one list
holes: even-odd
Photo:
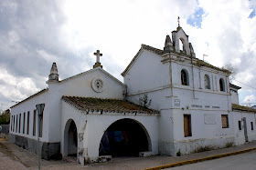
[[249, 153], [240, 155], [231, 155], [228, 157], [223, 157], [219, 159], [214, 159], [210, 161], [205, 161], [192, 165], [182, 165], [173, 168], [167, 168], [170, 170], [193, 170], [193, 169], [218, 169], [218, 170], [235, 170], [235, 169], [256, 169], [256, 151], [251, 151]]

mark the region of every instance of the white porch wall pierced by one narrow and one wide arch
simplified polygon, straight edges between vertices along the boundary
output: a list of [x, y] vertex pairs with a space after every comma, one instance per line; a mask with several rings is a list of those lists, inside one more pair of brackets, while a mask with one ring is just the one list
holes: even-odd
[[[144, 127], [144, 130], [150, 137], [152, 154], [158, 154], [158, 116], [157, 115], [144, 115], [144, 114], [119, 114], [119, 113], [90, 113], [86, 114], [74, 107], [70, 106], [66, 102], [62, 101], [63, 109], [61, 116], [61, 153], [63, 154], [64, 143], [64, 130], [66, 123], [69, 119], [74, 120], [78, 127], [78, 133], [83, 135], [82, 144], [79, 144], [79, 152], [82, 148], [82, 153], [86, 160], [95, 162], [99, 158], [99, 147], [101, 143], [101, 137], [104, 131], [112, 125], [112, 123], [123, 119], [129, 118], [137, 121]], [[80, 141], [80, 140], [79, 140]], [[83, 159], [80, 155], [80, 161]]]

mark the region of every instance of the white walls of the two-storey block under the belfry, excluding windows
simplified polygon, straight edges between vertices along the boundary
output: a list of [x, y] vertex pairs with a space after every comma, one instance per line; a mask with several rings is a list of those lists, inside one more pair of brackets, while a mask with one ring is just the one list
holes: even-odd
[[[166, 55], [167, 58], [172, 58], [171, 63], [161, 62], [162, 56], [144, 50], [124, 76], [128, 100], [138, 103], [146, 94], [152, 99], [150, 108], [161, 111], [160, 154], [175, 155], [178, 148], [188, 154], [200, 146], [193, 141], [204, 143], [201, 146], [223, 146], [234, 140], [232, 125], [227, 129], [221, 125], [221, 115], [229, 115], [231, 110], [228, 75], [208, 67], [192, 67], [191, 60], [182, 55]], [[189, 85], [181, 85], [182, 69], [188, 72]], [[205, 89], [204, 75], [209, 76], [210, 89]], [[220, 78], [225, 81], [225, 92], [219, 90]], [[184, 114], [191, 115], [191, 137], [184, 137]], [[214, 117], [214, 125], [206, 125], [205, 115]], [[194, 146], [189, 148], [188, 142]]]

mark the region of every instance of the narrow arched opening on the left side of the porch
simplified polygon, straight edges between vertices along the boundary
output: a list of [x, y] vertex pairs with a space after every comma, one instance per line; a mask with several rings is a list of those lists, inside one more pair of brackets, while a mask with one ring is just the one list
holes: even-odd
[[66, 124], [64, 139], [64, 156], [77, 156], [78, 131], [75, 122], [71, 119]]

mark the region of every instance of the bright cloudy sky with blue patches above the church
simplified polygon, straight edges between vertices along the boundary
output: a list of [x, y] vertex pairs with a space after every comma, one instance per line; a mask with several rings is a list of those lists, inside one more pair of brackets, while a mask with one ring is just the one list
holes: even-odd
[[1, 0], [0, 109], [46, 88], [53, 62], [60, 79], [91, 69], [97, 49], [123, 81], [141, 44], [163, 49], [178, 15], [197, 58], [238, 67], [240, 104], [256, 103], [255, 10], [256, 0]]

